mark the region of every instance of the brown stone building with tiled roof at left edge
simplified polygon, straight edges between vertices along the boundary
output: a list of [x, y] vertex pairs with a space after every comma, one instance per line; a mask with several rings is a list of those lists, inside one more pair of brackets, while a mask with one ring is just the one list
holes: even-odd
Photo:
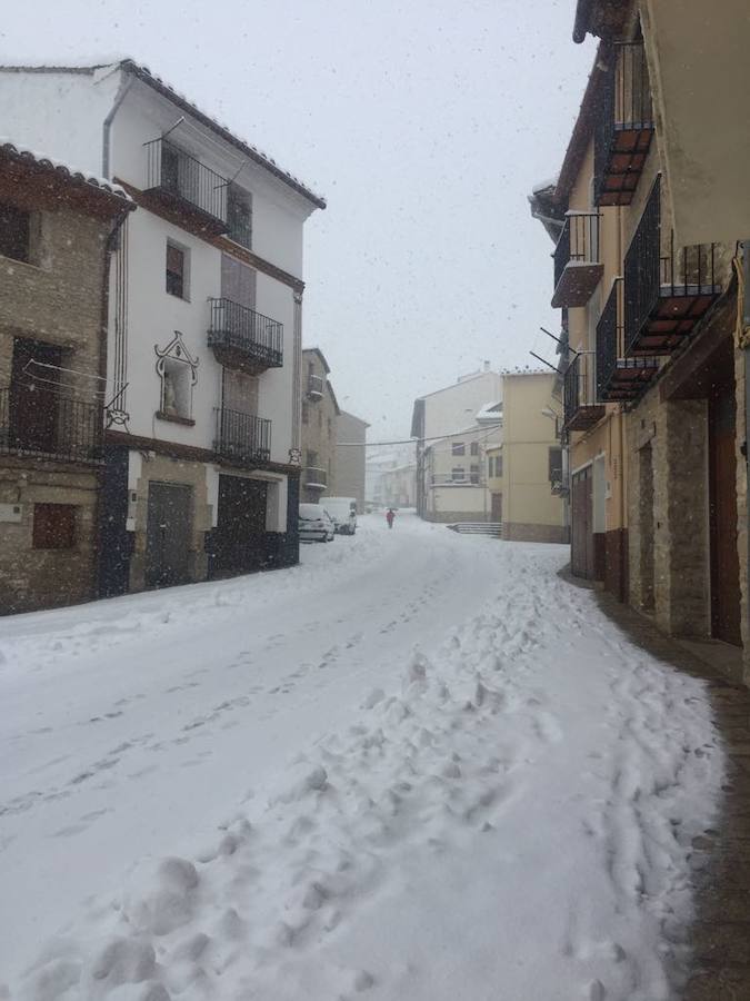
[[97, 594], [110, 256], [133, 208], [0, 145], [0, 613]]

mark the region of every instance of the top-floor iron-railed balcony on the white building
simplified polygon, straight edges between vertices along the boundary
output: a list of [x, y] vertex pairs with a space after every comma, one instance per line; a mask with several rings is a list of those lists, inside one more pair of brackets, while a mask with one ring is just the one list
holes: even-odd
[[213, 235], [227, 232], [227, 178], [167, 139], [143, 143], [146, 191], [160, 202], [200, 222]]

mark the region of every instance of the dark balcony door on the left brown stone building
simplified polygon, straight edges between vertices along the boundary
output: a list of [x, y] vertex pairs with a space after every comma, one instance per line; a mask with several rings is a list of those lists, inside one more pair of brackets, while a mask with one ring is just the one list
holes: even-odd
[[16, 338], [8, 415], [12, 447], [56, 450], [62, 357], [57, 345]]

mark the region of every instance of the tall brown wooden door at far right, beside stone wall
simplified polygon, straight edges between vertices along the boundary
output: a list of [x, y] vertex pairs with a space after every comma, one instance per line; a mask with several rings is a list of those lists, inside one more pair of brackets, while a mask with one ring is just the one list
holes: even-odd
[[734, 406], [733, 381], [709, 399], [711, 633], [717, 640], [740, 646]]

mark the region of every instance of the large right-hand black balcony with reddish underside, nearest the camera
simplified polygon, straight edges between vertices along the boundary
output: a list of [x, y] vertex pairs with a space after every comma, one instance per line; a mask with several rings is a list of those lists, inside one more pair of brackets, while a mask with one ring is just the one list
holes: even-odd
[[626, 354], [671, 354], [720, 293], [716, 245], [676, 248], [662, 228], [658, 175], [624, 258]]

